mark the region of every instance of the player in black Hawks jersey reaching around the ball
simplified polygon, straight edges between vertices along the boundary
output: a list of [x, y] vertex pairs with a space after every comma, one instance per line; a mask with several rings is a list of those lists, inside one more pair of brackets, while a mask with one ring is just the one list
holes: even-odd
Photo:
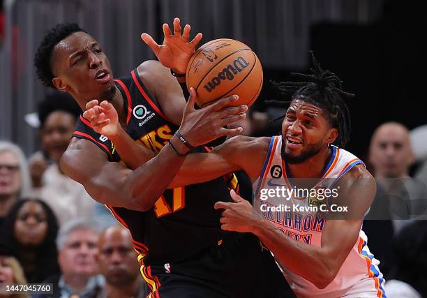
[[95, 103], [101, 114], [91, 121], [109, 114], [107, 104], [117, 111], [108, 121], [119, 124], [92, 126], [80, 117], [61, 169], [130, 230], [148, 297], [286, 297], [285, 278], [257, 238], [220, 229], [213, 204], [232, 202], [228, 186], [239, 186], [232, 174], [165, 191], [190, 148], [206, 151], [200, 145], [241, 132], [224, 126], [244, 119], [247, 107], [227, 107], [237, 99], [230, 96], [195, 110], [193, 89], [186, 104], [170, 70], [177, 77], [185, 71], [202, 36], [188, 42], [190, 27], [181, 35], [179, 19], [173, 34], [163, 29], [158, 57], [168, 68], [145, 61], [119, 80], [98, 42], [76, 24], [47, 33], [35, 57], [38, 77], [83, 109]]

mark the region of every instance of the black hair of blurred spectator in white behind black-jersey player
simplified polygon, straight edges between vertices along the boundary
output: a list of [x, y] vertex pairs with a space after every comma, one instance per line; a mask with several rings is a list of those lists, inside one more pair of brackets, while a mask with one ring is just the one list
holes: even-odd
[[77, 105], [70, 94], [61, 91], [54, 91], [52, 94], [47, 94], [45, 99], [37, 105], [37, 114], [38, 119], [40, 120], [40, 128], [45, 126], [47, 117], [52, 114], [52, 112], [57, 111], [67, 112], [68, 114], [71, 114], [76, 120], [82, 112], [79, 105]]

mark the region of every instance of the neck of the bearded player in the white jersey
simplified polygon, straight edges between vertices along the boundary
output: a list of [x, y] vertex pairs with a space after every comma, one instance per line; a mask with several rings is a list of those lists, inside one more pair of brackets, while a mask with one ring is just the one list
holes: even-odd
[[289, 174], [292, 178], [319, 178], [322, 177], [324, 168], [332, 156], [332, 149], [325, 147], [318, 154], [308, 158], [303, 163], [288, 164]]

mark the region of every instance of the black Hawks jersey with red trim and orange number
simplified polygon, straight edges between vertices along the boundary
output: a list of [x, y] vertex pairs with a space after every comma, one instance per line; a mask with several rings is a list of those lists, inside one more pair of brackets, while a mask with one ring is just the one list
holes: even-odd
[[[129, 77], [115, 80], [125, 103], [127, 133], [138, 144], [158, 153], [172, 138], [177, 126], [167, 120], [156, 98], [133, 70]], [[74, 137], [96, 144], [110, 161], [120, 161], [114, 144], [93, 131], [89, 121], [77, 120]], [[199, 147], [196, 151], [207, 151]], [[107, 207], [117, 220], [128, 228], [139, 260], [145, 265], [177, 262], [226, 237], [220, 230], [220, 213], [213, 209], [218, 201], [231, 202], [229, 186], [237, 188], [234, 174], [202, 184], [167, 190], [149, 211]]]

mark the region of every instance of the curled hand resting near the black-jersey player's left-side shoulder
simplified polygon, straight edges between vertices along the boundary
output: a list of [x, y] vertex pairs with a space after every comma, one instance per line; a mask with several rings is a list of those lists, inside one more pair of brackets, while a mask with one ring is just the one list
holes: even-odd
[[117, 135], [119, 131], [119, 117], [116, 109], [107, 100], [98, 103], [98, 100], [91, 100], [86, 104], [86, 110], [83, 117], [87, 119], [93, 128], [93, 131], [111, 138]]

